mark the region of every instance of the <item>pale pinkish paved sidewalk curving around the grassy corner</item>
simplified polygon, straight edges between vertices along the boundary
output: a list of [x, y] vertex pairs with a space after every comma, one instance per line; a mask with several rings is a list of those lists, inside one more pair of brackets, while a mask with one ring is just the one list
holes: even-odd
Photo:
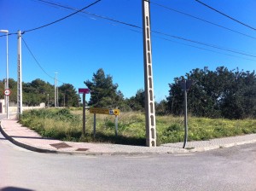
[[256, 142], [256, 134], [246, 136], [233, 136], [210, 141], [187, 142], [183, 148], [183, 142], [167, 143], [156, 148], [142, 146], [88, 143], [88, 142], [61, 142], [59, 140], [43, 138], [37, 132], [22, 127], [17, 119], [3, 119], [0, 131], [10, 142], [21, 148], [26, 148], [40, 153], [67, 153], [86, 155], [125, 155], [125, 154], [149, 154], [149, 153], [190, 153], [201, 152], [216, 148], [229, 148], [235, 145]]

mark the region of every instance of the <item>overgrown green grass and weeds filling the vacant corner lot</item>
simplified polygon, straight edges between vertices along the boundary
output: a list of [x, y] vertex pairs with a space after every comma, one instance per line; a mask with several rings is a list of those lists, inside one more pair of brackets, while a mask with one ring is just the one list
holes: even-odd
[[[20, 124], [45, 137], [74, 142], [110, 142], [145, 145], [143, 113], [120, 113], [119, 131], [115, 136], [114, 116], [96, 115], [96, 136], [93, 135], [93, 114], [86, 112], [85, 135], [82, 135], [82, 111], [76, 109], [41, 109], [26, 111]], [[183, 142], [183, 118], [157, 116], [157, 144]], [[256, 133], [256, 120], [189, 118], [189, 141], [209, 140], [224, 136]]]

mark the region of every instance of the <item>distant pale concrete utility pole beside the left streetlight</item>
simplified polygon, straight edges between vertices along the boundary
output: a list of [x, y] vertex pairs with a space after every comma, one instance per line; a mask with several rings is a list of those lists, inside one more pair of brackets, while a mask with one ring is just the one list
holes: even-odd
[[17, 80], [17, 114], [22, 114], [22, 72], [21, 72], [21, 32], [18, 31], [18, 80]]

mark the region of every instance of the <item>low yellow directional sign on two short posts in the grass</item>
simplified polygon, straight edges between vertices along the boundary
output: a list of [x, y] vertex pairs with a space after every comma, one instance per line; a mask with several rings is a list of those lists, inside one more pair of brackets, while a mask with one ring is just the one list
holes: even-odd
[[93, 136], [96, 136], [96, 114], [114, 115], [115, 116], [115, 136], [118, 136], [118, 116], [119, 109], [106, 109], [106, 108], [96, 108], [91, 107], [90, 113], [94, 113], [94, 123], [93, 123]]

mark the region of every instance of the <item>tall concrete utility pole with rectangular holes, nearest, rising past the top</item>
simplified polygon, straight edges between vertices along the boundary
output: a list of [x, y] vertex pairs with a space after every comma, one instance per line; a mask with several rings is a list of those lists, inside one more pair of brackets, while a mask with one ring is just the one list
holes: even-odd
[[143, 49], [144, 49], [144, 83], [145, 83], [145, 114], [146, 141], [148, 147], [156, 147], [156, 125], [154, 112], [154, 85], [152, 70], [152, 53], [150, 37], [149, 3], [143, 0]]

